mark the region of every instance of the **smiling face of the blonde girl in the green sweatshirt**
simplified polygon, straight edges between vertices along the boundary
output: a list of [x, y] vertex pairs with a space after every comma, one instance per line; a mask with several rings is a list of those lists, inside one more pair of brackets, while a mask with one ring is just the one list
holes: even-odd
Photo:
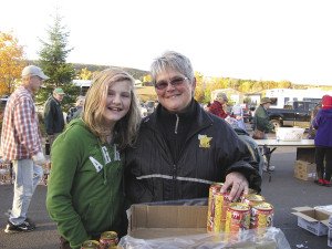
[[103, 116], [108, 124], [114, 124], [124, 117], [132, 103], [131, 83], [120, 81], [108, 86], [106, 105]]

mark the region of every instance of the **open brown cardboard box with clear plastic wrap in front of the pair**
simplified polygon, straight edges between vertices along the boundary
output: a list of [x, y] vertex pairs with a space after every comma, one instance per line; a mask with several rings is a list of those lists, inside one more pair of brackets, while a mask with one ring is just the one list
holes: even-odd
[[[197, 245], [207, 242], [209, 247], [220, 243], [225, 245], [225, 234], [207, 234], [207, 206], [163, 206], [163, 205], [133, 205], [127, 211], [128, 216], [128, 236], [126, 239], [126, 248], [177, 248], [174, 243], [179, 241], [193, 242]], [[276, 228], [272, 228], [276, 229]], [[256, 235], [256, 234], [255, 234]], [[193, 236], [196, 236], [194, 238]], [[224, 237], [222, 237], [224, 236]], [[277, 234], [274, 234], [277, 236]], [[279, 238], [284, 238], [284, 235], [278, 234]], [[267, 236], [269, 237], [269, 236]], [[222, 239], [220, 239], [222, 238]], [[144, 242], [142, 242], [144, 241]], [[218, 243], [218, 241], [220, 241]], [[278, 240], [279, 241], [279, 240]], [[284, 240], [287, 239], [284, 238]], [[268, 238], [266, 240], [253, 239], [232, 241], [229, 248], [234, 249], [276, 249], [277, 240]], [[288, 242], [287, 242], [288, 243]], [[139, 247], [142, 245], [142, 247]], [[156, 246], [157, 247], [154, 247]], [[132, 247], [133, 246], [133, 247]], [[134, 247], [136, 246], [136, 247]], [[283, 247], [280, 248], [287, 248]], [[289, 246], [289, 245], [288, 245]], [[179, 247], [179, 248], [197, 248], [197, 247]], [[219, 248], [219, 247], [218, 247]], [[224, 248], [224, 247], [222, 247]]]

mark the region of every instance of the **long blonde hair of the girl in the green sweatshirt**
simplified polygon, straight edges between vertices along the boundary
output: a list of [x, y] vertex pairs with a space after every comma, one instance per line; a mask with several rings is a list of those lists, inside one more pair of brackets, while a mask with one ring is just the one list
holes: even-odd
[[134, 89], [135, 80], [128, 73], [107, 69], [96, 74], [86, 93], [82, 118], [91, 132], [105, 143], [106, 136], [111, 135], [103, 117], [108, 87], [120, 81], [126, 81], [131, 85], [131, 107], [127, 114], [116, 122], [112, 134], [113, 141], [123, 149], [127, 145], [133, 145], [141, 123], [138, 100]]

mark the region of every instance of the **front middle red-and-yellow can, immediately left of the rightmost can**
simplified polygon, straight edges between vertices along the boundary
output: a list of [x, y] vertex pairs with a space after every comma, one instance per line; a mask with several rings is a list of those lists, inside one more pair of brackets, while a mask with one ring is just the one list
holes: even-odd
[[232, 203], [227, 209], [225, 231], [240, 232], [250, 227], [250, 208], [247, 204]]

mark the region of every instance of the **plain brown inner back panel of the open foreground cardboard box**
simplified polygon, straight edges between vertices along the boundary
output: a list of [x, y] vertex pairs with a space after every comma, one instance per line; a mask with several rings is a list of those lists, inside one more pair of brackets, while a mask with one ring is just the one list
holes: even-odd
[[133, 205], [133, 228], [206, 228], [206, 206]]

